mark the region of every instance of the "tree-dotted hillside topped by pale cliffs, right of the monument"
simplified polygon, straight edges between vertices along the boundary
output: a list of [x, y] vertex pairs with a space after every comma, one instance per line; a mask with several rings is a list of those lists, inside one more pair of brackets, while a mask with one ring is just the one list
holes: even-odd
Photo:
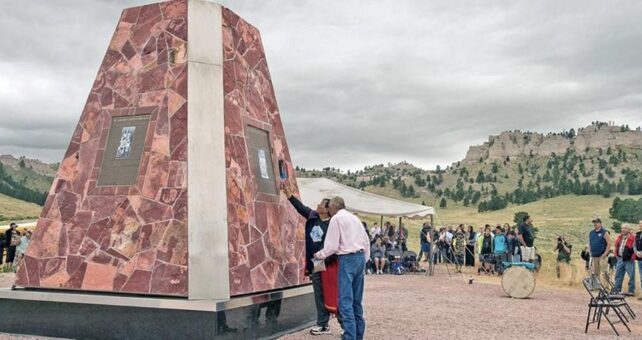
[[[479, 156], [479, 157], [478, 157]], [[374, 165], [356, 172], [297, 169], [301, 177], [328, 177], [387, 196], [434, 206], [454, 204], [479, 212], [567, 194], [642, 193], [642, 132], [594, 122], [542, 135], [502, 132], [445, 168], [408, 163]]]

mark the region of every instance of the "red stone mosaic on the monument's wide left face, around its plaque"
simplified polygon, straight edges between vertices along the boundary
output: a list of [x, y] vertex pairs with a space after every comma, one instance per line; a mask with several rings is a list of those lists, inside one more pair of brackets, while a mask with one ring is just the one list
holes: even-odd
[[[123, 11], [16, 284], [187, 295], [184, 0]], [[134, 186], [97, 187], [112, 117], [150, 114]]]

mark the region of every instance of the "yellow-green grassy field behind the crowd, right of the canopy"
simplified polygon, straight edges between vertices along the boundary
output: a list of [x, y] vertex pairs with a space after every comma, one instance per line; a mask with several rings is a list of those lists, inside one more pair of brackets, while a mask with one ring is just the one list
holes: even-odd
[[[539, 229], [535, 246], [543, 258], [543, 265], [538, 275], [538, 283], [559, 287], [576, 287], [581, 284], [581, 279], [586, 273], [580, 252], [587, 243], [588, 233], [592, 228], [591, 220], [593, 216], [600, 216], [604, 225], [611, 229], [613, 220], [609, 217], [608, 211], [612, 202], [613, 198], [601, 196], [567, 195], [525, 205], [509, 206], [499, 211], [478, 213], [475, 208], [455, 205], [449, 201], [448, 208], [436, 208], [435, 224], [437, 226], [457, 226], [463, 223], [467, 226], [474, 226], [475, 230], [484, 224], [494, 226], [496, 223], [508, 222], [513, 225], [515, 213], [526, 211]], [[379, 222], [378, 217], [365, 217], [364, 219], [369, 225]], [[384, 221], [386, 220], [395, 225], [398, 224], [398, 220], [384, 218]], [[423, 222], [404, 220], [410, 233], [408, 246], [413, 251], [419, 250], [419, 230]], [[637, 230], [637, 226], [634, 227]], [[567, 241], [573, 245], [572, 264], [570, 268], [566, 267], [562, 270], [561, 279], [556, 277], [557, 253], [554, 251], [559, 235], [564, 235]], [[615, 241], [615, 237], [616, 235], [612, 234], [613, 241]]]

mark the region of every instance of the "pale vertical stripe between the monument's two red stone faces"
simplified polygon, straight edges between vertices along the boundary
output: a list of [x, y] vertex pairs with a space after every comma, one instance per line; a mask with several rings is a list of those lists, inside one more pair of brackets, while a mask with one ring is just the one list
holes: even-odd
[[187, 2], [189, 298], [229, 300], [221, 6]]

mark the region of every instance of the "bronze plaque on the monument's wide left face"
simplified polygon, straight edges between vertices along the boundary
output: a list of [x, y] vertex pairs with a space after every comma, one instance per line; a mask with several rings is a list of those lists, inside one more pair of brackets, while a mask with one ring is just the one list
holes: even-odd
[[97, 186], [136, 184], [150, 115], [113, 117]]

